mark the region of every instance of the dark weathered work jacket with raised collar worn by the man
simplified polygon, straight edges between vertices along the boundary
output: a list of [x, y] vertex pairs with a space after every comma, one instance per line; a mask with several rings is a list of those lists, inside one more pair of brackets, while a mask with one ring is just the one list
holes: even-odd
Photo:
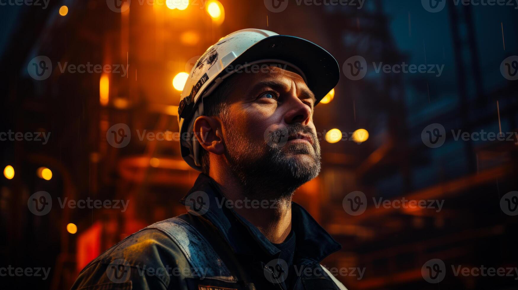
[[286, 269], [279, 249], [224, 200], [200, 174], [180, 200], [188, 213], [117, 243], [84, 267], [72, 289], [284, 290], [287, 271], [296, 272], [292, 289], [346, 289], [319, 264], [340, 244], [304, 208], [292, 203], [296, 244]]

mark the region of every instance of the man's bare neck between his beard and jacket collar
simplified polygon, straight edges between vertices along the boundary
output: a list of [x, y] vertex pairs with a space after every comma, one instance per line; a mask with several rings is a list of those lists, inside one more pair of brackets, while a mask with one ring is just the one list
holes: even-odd
[[[225, 198], [232, 200], [234, 205], [239, 200], [238, 206], [233, 209], [256, 226], [270, 242], [282, 243], [290, 234], [291, 193], [272, 192], [265, 184], [247, 186], [245, 189], [239, 179], [227, 170], [213, 170], [211, 167], [209, 175], [218, 183]], [[265, 196], [284, 197], [268, 199]]]

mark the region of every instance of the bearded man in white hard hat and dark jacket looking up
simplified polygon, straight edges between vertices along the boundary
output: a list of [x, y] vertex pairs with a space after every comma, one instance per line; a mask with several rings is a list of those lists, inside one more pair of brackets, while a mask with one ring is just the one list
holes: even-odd
[[114, 245], [73, 289], [345, 289], [319, 264], [340, 244], [291, 201], [320, 171], [313, 110], [338, 78], [293, 36], [247, 29], [210, 47], [178, 109], [182, 157], [203, 171], [189, 212]]

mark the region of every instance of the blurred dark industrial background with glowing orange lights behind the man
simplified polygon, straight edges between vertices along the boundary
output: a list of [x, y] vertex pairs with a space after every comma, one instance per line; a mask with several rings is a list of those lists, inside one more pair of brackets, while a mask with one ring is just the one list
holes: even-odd
[[[68, 289], [114, 243], [184, 213], [198, 175], [175, 135], [185, 72], [223, 36], [261, 28], [343, 66], [314, 114], [322, 172], [295, 193], [342, 244], [322, 264], [364, 269], [337, 276], [350, 290], [518, 289], [515, 270], [453, 270], [518, 267], [518, 4], [488, 3], [0, 1], [0, 287]], [[383, 68], [403, 63], [427, 69]], [[439, 283], [424, 274], [431, 259], [445, 265]]]

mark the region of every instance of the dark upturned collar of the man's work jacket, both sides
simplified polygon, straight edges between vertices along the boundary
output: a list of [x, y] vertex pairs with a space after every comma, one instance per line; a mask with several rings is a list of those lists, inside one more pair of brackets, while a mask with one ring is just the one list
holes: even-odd
[[[225, 200], [216, 182], [200, 173], [192, 189], [180, 202], [190, 207], [191, 214], [199, 215], [212, 224], [236, 254], [258, 255], [267, 257], [267, 260], [278, 256], [280, 250], [257, 227], [233, 209], [225, 207]], [[296, 238], [294, 262], [298, 260], [303, 265], [320, 263], [326, 256], [341, 249], [341, 245], [295, 202], [292, 202], [292, 230]]]

